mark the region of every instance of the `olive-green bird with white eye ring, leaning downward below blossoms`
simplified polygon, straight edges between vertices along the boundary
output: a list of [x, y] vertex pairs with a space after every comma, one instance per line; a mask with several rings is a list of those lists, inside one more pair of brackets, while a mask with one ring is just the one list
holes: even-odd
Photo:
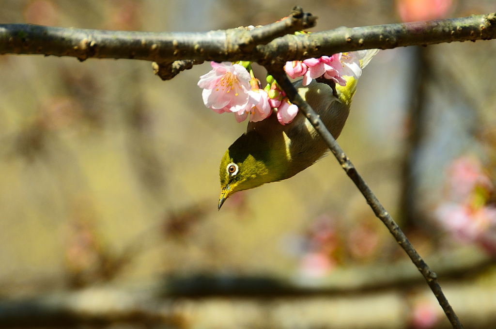
[[[360, 61], [362, 68], [375, 53], [377, 50], [369, 51]], [[303, 86], [302, 80], [293, 83], [334, 138], [339, 136], [346, 123], [357, 88], [356, 79], [345, 78], [346, 86], [336, 84], [335, 92], [328, 84], [315, 80], [308, 86]], [[293, 177], [322, 158], [328, 150], [302, 113], [285, 126], [277, 121], [274, 113], [265, 120], [249, 122], [247, 132], [222, 157], [219, 171], [222, 193], [218, 209], [238, 191]]]

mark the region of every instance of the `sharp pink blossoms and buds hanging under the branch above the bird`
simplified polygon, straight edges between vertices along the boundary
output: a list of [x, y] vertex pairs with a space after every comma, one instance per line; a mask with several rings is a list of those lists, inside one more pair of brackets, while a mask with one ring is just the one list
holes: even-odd
[[[303, 85], [312, 79], [325, 78], [346, 85], [344, 76], [358, 79], [362, 74], [360, 60], [367, 51], [334, 54], [305, 61], [287, 62], [284, 67], [291, 78], [303, 76]], [[278, 121], [286, 125], [293, 121], [298, 107], [291, 104], [286, 94], [271, 75], [267, 75], [267, 85], [262, 89], [255, 78], [250, 62], [211, 62], [212, 70], [202, 76], [198, 86], [203, 88], [202, 98], [206, 107], [216, 113], [233, 112], [238, 122], [248, 118], [257, 122], [268, 118], [273, 109]]]

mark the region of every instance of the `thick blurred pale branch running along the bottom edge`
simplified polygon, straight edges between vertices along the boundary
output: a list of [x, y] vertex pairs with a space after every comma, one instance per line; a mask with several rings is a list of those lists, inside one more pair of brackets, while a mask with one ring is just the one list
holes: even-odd
[[[386, 269], [387, 270], [387, 269]], [[356, 270], [349, 271], [353, 274]], [[257, 279], [229, 277], [169, 281], [169, 287], [100, 286], [0, 303], [0, 328], [171, 326], [173, 328], [449, 328], [432, 293], [419, 285], [374, 290], [325, 292]], [[276, 281], [277, 282], [277, 281]], [[208, 286], [214, 295], [175, 295], [174, 284]], [[246, 286], [245, 294], [235, 293]], [[171, 290], [171, 287], [172, 290]], [[218, 287], [219, 290], [215, 291]], [[257, 290], [262, 287], [263, 290]], [[276, 287], [276, 288], [275, 288]], [[274, 289], [275, 288], [275, 289]], [[494, 286], [445, 284], [460, 317], [472, 326], [492, 328], [496, 321]], [[222, 291], [228, 294], [222, 294]], [[219, 294], [220, 292], [220, 294]], [[344, 294], [346, 293], [346, 294]], [[170, 297], [170, 296], [173, 297]], [[476, 299], [476, 300], [475, 300]]]

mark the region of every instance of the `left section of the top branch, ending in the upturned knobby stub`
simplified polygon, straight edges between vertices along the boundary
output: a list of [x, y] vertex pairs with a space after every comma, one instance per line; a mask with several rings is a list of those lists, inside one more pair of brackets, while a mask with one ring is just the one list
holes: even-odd
[[70, 56], [80, 61], [89, 58], [158, 63], [180, 60], [249, 61], [247, 54], [257, 45], [313, 27], [315, 19], [296, 6], [288, 17], [257, 29], [210, 32], [128, 32], [0, 24], [0, 54]]

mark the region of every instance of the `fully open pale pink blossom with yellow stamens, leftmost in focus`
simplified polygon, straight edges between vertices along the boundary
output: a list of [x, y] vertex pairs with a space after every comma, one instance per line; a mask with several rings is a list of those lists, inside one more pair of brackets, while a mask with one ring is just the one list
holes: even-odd
[[244, 66], [230, 62], [211, 62], [212, 70], [202, 76], [198, 86], [203, 88], [206, 107], [217, 113], [243, 111], [249, 101], [250, 74]]

